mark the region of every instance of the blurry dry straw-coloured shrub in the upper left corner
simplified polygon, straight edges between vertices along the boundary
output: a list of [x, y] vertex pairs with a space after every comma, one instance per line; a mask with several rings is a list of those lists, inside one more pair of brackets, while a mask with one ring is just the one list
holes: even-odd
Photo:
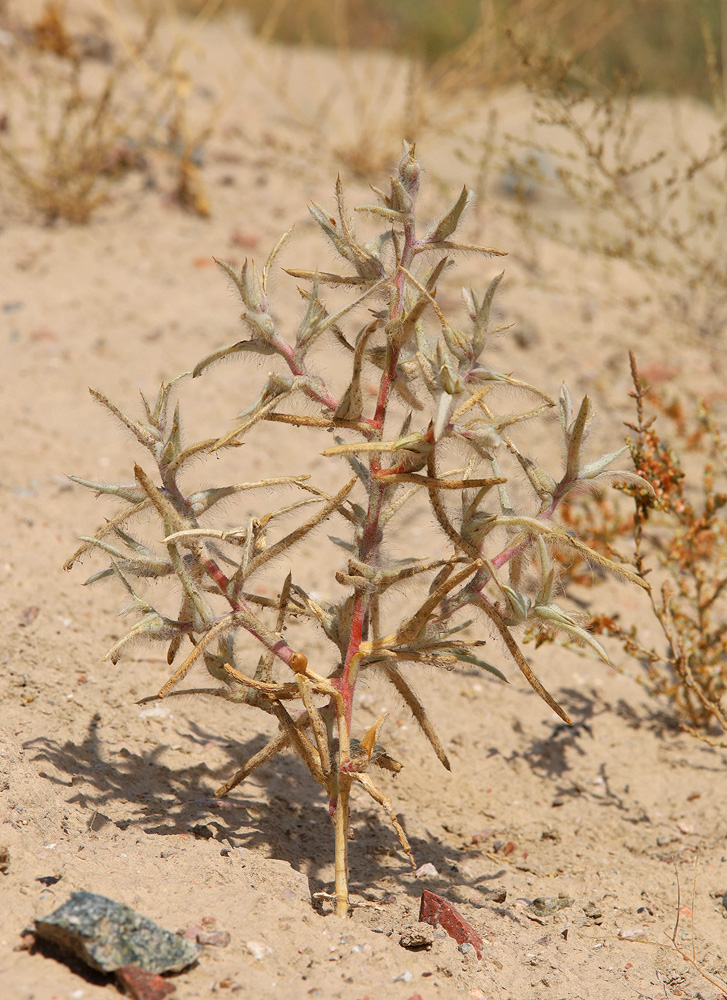
[[209, 214], [199, 156], [212, 124], [190, 128], [183, 46], [160, 41], [156, 15], [132, 37], [107, 14], [75, 28], [55, 0], [36, 20], [6, 13], [0, 171], [46, 221], [84, 223], [161, 154], [176, 201]]

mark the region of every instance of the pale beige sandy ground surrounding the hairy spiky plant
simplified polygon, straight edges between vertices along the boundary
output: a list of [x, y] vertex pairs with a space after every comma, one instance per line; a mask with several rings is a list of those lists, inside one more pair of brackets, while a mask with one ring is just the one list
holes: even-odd
[[[679, 913], [679, 947], [692, 954], [694, 933], [697, 961], [712, 975], [727, 973], [725, 755], [678, 731], [630, 676], [637, 665], [621, 657], [622, 673], [555, 648], [532, 653], [572, 729], [515, 676], [494, 641], [490, 654], [508, 686], [474, 668], [418, 671], [414, 683], [433, 706], [452, 774], [383, 682], [371, 682], [359, 723], [390, 711], [387, 747], [405, 767], [381, 784], [417, 864], [433, 868], [413, 875], [386, 817], [359, 798], [351, 887], [360, 905], [341, 920], [312, 902], [331, 887], [333, 839], [327, 803], [297, 760], [279, 757], [228, 799], [212, 797], [263, 745], [267, 720], [261, 728], [257, 715], [219, 699], [139, 707], [168, 675], [156, 648], [134, 647], [116, 666], [100, 662], [121, 634], [122, 595], [113, 585], [81, 587], [84, 570], [98, 568], [91, 561], [71, 574], [61, 566], [77, 536], [111, 508], [64, 475], [126, 481], [139, 453], [87, 388], [133, 412], [139, 389], [155, 393], [162, 379], [237, 339], [238, 308], [213, 255], [264, 258], [295, 223], [284, 263], [328, 267], [306, 203], [331, 203], [333, 150], [352, 127], [330, 54], [264, 49], [241, 25], [222, 22], [197, 37], [195, 59], [198, 87], [210, 101], [225, 101], [203, 169], [210, 220], [169, 204], [163, 186], [130, 184], [87, 226], [44, 228], [3, 194], [0, 845], [9, 865], [0, 875], [0, 993], [117, 995], [110, 981], [16, 947], [35, 917], [86, 889], [172, 930], [208, 917], [229, 932], [227, 947], [208, 947], [174, 978], [182, 998], [719, 997], [670, 938]], [[364, 73], [366, 59], [349, 65]], [[277, 80], [285, 68], [298, 108], [310, 110], [315, 95], [337, 95], [322, 132], [296, 117], [261, 67]], [[525, 128], [523, 94], [493, 103], [513, 128]], [[467, 168], [434, 132], [419, 151], [434, 212], [456, 195]], [[351, 181], [349, 202], [366, 198], [365, 185]], [[613, 448], [621, 438], [628, 347], [675, 389], [725, 398], [719, 358], [665, 308], [666, 286], [663, 296], [655, 283], [646, 294], [625, 265], [606, 266], [517, 228], [494, 199], [480, 203], [466, 235], [511, 251], [498, 308], [515, 327], [497, 341], [493, 364], [552, 394], [563, 378], [574, 394], [588, 391], [600, 413], [599, 442]], [[498, 270], [496, 261], [466, 260], [458, 284], [484, 287]], [[292, 279], [276, 277], [274, 295], [281, 322], [299, 314]], [[457, 286], [442, 296], [454, 303]], [[332, 370], [338, 357], [328, 362]], [[229, 364], [189, 384], [185, 426], [199, 437], [221, 432], [263, 375]], [[319, 450], [304, 434], [284, 441], [259, 426], [236, 476], [264, 475], [272, 465], [333, 482]], [[208, 473], [196, 474], [204, 482]], [[231, 523], [264, 500], [245, 500], [230, 511]], [[407, 530], [438, 544], [426, 518]], [[325, 585], [319, 544], [316, 536], [297, 552], [297, 572], [314, 589]], [[274, 590], [277, 573], [262, 585]], [[642, 617], [648, 637], [642, 595], [614, 584], [595, 600], [600, 610]], [[504, 901], [488, 898], [500, 887]], [[482, 961], [441, 932], [426, 951], [400, 944], [423, 888], [445, 896], [477, 929]], [[572, 903], [535, 921], [526, 906], [538, 896]]]

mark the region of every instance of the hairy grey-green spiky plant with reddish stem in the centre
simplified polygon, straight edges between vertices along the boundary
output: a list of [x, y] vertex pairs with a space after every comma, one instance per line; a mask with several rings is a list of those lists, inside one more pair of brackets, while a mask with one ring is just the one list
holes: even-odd
[[[107, 658], [116, 662], [129, 643], [150, 639], [168, 643], [171, 664], [189, 644], [158, 697], [177, 693], [174, 688], [185, 675], [204, 666], [219, 682], [211, 689], [214, 695], [275, 717], [277, 735], [218, 794], [229, 792], [281, 751], [295, 753], [329, 799], [339, 914], [349, 909], [354, 783], [386, 811], [413, 863], [391, 800], [370, 774], [375, 768], [396, 773], [402, 766], [380, 742], [385, 718], [365, 732], [355, 727], [360, 678], [373, 671], [392, 684], [448, 768], [434, 725], [404, 672], [406, 664], [445, 669], [470, 664], [504, 679], [498, 667], [479, 656], [483, 632], [494, 633], [538, 694], [569, 722], [533, 674], [514, 634], [529, 622], [545, 622], [606, 659], [576, 617], [554, 601], [554, 552], [566, 548], [645, 586], [628, 567], [588, 549], [554, 515], [576, 487], [598, 487], [613, 477], [648, 487], [634, 473], [608, 470], [621, 451], [584, 460], [591, 405], [585, 398], [574, 407], [565, 386], [559, 402], [563, 470], [553, 476], [526, 454], [530, 422], [555, 404], [542, 389], [481, 360], [492, 333], [490, 306], [501, 275], [490, 281], [484, 295], [463, 291], [462, 326], [437, 304], [437, 285], [459, 253], [487, 259], [501, 251], [457, 239], [471, 200], [467, 188], [441, 218], [421, 226], [416, 214], [420, 179], [414, 147], [405, 143], [389, 190], [374, 189], [375, 201], [357, 210], [364, 224], [377, 224], [370, 239], [357, 234], [340, 179], [334, 213], [311, 205], [342, 269], [288, 271], [306, 283], [301, 289], [303, 316], [290, 336], [278, 329], [268, 300], [271, 268], [289, 233], [273, 248], [262, 272], [248, 262], [239, 273], [221, 264], [239, 293], [247, 337], [213, 351], [197, 364], [193, 377], [238, 354], [259, 355], [276, 366], [231, 431], [184, 443], [179, 405], [172, 408], [171, 397], [185, 376], [163, 385], [156, 402], [144, 400], [141, 420], [94, 392], [149, 453], [154, 477], [137, 465], [128, 484], [74, 478], [125, 505], [95, 535], [82, 539], [67, 564], [87, 553], [104, 554], [109, 565], [90, 582], [115, 577], [128, 594], [125, 611], [135, 622]], [[324, 286], [348, 290], [348, 301], [329, 310], [321, 297]], [[357, 322], [354, 313], [359, 314]], [[334, 391], [318, 365], [324, 338], [346, 351], [342, 392]], [[370, 395], [364, 386], [372, 378], [376, 388]], [[502, 411], [503, 400], [515, 400], [515, 408]], [[297, 401], [305, 404], [305, 415], [296, 412]], [[296, 435], [299, 425], [318, 429], [328, 445], [323, 454], [346, 471], [340, 488], [330, 493], [306, 475], [291, 475], [196, 492], [183, 489], [180, 475], [192, 462], [220, 449], [236, 449], [257, 433], [262, 421], [273, 422], [285, 435]], [[453, 453], [465, 454], [462, 467], [447, 468]], [[525, 473], [529, 498], [510, 496], [508, 469], [518, 479]], [[293, 491], [299, 499], [238, 527], [211, 525], [221, 501], [249, 490], [269, 492], [273, 486]], [[423, 557], [415, 550], [393, 558], [390, 542], [400, 535], [401, 513], [413, 512], [417, 505], [433, 512], [445, 554]], [[296, 526], [284, 531], [283, 517], [296, 511]], [[136, 535], [134, 522], [140, 514], [159, 523], [153, 548]], [[334, 517], [338, 525], [331, 540], [346, 561], [331, 573], [327, 589], [325, 581], [321, 584], [325, 598], [314, 598], [295, 581], [293, 548]], [[341, 529], [344, 535], [338, 537]], [[255, 577], [283, 554], [292, 560], [293, 573], [281, 581], [277, 598], [264, 597], [255, 590]], [[164, 577], [181, 590], [173, 615], [152, 604], [143, 589], [146, 580]], [[399, 593], [408, 588], [408, 602], [400, 611], [392, 610], [387, 600], [392, 587]], [[308, 644], [310, 650], [311, 628], [331, 647], [330, 656], [316, 663], [301, 648]]]

